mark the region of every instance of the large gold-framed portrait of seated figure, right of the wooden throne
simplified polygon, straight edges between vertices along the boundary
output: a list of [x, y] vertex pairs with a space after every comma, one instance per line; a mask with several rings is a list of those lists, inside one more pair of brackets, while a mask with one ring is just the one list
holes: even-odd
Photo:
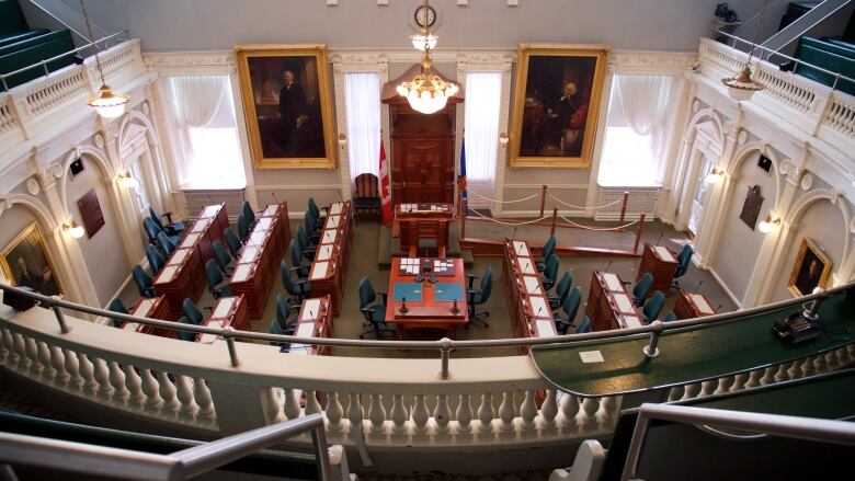
[[608, 46], [520, 44], [511, 167], [588, 168]]

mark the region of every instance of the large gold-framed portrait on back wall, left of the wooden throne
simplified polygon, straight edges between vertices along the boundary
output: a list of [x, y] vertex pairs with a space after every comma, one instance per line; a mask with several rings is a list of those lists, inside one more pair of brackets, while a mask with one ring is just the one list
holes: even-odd
[[335, 167], [326, 45], [235, 47], [254, 169]]

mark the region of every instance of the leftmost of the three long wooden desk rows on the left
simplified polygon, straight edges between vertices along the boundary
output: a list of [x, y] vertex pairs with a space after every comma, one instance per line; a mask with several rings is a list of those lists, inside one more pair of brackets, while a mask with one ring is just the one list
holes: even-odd
[[[225, 226], [225, 227], [224, 227]], [[203, 207], [196, 220], [189, 226], [187, 233], [167, 259], [155, 278], [155, 289], [166, 296], [169, 320], [176, 320], [183, 313], [184, 298], [194, 302], [205, 290], [205, 262], [213, 257], [212, 242], [223, 242], [223, 230], [228, 227], [226, 205]]]

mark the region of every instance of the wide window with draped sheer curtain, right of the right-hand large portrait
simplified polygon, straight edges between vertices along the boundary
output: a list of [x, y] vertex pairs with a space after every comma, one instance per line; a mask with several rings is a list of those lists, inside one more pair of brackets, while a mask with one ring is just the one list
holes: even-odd
[[660, 185], [677, 81], [670, 76], [615, 76], [597, 182]]

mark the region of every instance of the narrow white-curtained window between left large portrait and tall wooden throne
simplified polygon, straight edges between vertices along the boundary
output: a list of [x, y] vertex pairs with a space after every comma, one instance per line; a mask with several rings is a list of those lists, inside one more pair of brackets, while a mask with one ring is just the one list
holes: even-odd
[[366, 172], [379, 179], [380, 76], [373, 72], [345, 73], [344, 105], [347, 110], [351, 180]]

